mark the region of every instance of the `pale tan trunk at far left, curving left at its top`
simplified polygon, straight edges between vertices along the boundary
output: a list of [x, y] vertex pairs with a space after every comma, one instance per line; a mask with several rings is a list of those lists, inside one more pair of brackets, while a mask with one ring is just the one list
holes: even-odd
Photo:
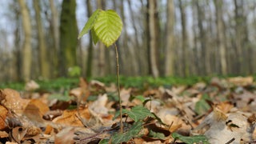
[[24, 42], [22, 46], [22, 77], [26, 82], [30, 80], [31, 70], [31, 24], [30, 14], [26, 3], [23, 0], [18, 0], [22, 14], [22, 26], [24, 30]]

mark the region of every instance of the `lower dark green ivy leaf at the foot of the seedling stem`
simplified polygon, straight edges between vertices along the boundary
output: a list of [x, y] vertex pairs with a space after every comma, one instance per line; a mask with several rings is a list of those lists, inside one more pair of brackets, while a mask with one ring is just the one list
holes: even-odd
[[142, 122], [135, 122], [124, 134], [114, 134], [112, 137], [112, 143], [128, 142], [131, 138], [138, 137], [138, 133], [142, 130]]

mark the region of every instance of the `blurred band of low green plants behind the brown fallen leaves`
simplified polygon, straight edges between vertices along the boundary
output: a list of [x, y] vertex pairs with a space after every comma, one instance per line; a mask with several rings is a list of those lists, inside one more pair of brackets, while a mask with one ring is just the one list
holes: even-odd
[[[110, 85], [111, 82], [116, 83], [116, 76], [106, 76], [102, 78], [90, 78], [96, 79], [100, 82], [105, 83], [107, 86]], [[158, 87], [165, 86], [166, 88], [170, 88], [174, 85], [193, 85], [196, 82], [209, 82], [210, 77], [161, 77], [161, 78], [153, 78], [149, 76], [143, 77], [120, 77], [120, 85], [122, 87], [136, 87], [138, 89], [146, 89], [148, 87]], [[36, 81], [40, 86], [40, 90], [69, 90], [71, 88], [77, 87], [79, 83], [79, 78], [57, 78], [54, 80], [47, 81]], [[25, 83], [24, 82], [6, 82], [0, 84], [0, 89], [3, 88], [11, 88], [14, 90], [24, 90]]]

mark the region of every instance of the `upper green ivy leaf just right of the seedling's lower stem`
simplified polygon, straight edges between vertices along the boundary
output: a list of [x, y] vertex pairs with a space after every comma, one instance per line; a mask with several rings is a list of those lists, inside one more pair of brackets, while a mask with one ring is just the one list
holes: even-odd
[[138, 122], [139, 120], [143, 120], [146, 117], [154, 118], [154, 114], [150, 112], [144, 106], [134, 106], [131, 110], [122, 110], [123, 114], [128, 114], [130, 118], [134, 120], [134, 122]]

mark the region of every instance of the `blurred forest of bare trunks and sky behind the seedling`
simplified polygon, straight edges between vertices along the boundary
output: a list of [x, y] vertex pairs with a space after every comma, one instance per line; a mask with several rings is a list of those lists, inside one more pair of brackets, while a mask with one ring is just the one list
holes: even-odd
[[[0, 79], [28, 81], [116, 72], [114, 48], [78, 33], [96, 9], [123, 21], [117, 45], [126, 76], [256, 72], [254, 0], [0, 1]], [[72, 70], [71, 70], [72, 71]]]

